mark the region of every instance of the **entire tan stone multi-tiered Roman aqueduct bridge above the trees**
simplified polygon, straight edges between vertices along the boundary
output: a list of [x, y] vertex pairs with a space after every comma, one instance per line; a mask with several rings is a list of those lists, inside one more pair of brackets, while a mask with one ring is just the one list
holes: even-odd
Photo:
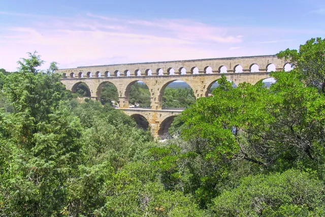
[[[236, 85], [242, 82], [255, 84], [269, 77], [268, 69], [271, 65], [280, 71], [285, 64], [275, 55], [268, 55], [78, 67], [61, 69], [57, 73], [63, 75], [61, 82], [73, 92], [81, 82], [86, 83], [93, 100], [100, 100], [105, 83], [113, 83], [118, 90], [120, 109], [136, 120], [141, 115], [145, 117], [152, 135], [158, 137], [167, 132], [173, 117], [181, 112], [162, 109], [164, 90], [171, 82], [184, 81], [193, 89], [196, 98], [207, 97], [210, 87], [224, 73], [225, 68], [227, 71], [224, 75]], [[252, 72], [256, 65], [259, 71]], [[238, 66], [242, 67], [242, 73], [235, 73]], [[129, 108], [129, 90], [137, 81], [149, 87], [151, 109]]]

